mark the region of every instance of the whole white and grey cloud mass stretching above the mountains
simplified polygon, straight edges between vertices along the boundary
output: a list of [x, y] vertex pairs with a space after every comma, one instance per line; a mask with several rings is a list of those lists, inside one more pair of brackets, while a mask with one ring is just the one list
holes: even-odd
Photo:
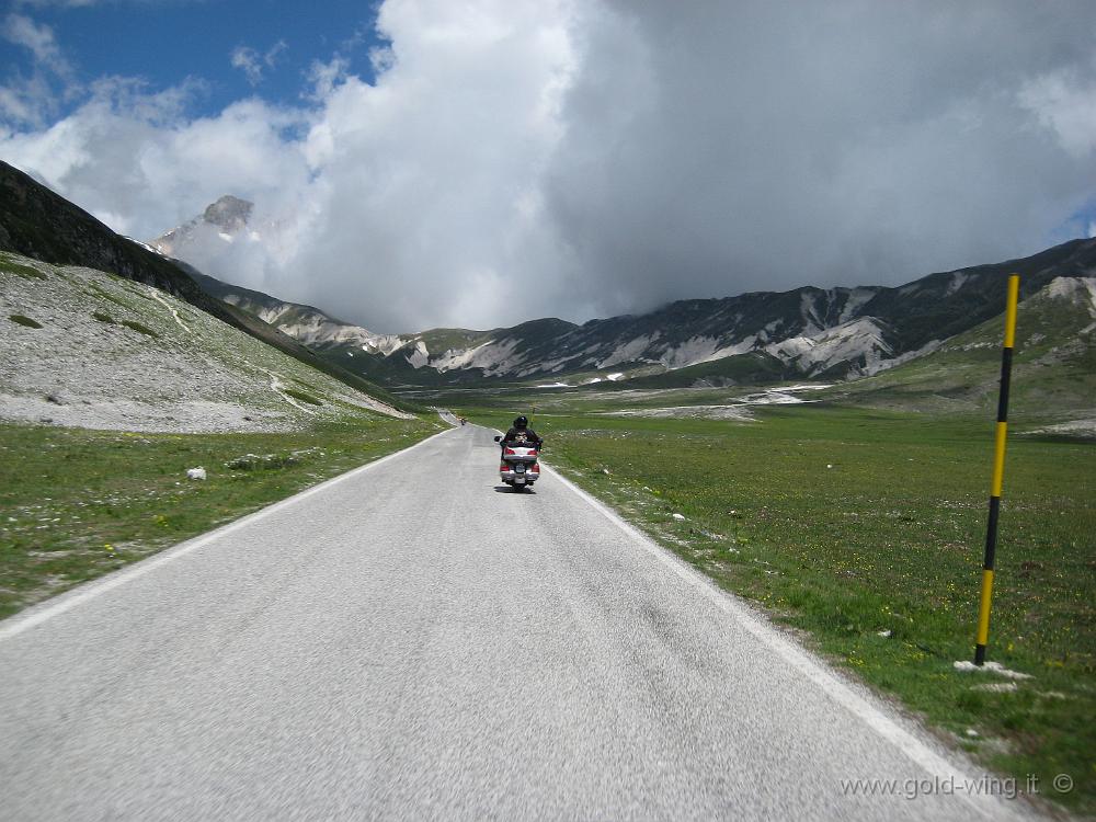
[[296, 107], [260, 71], [196, 117], [199, 78], [78, 87], [9, 15], [38, 68], [0, 89], [0, 157], [140, 239], [246, 197], [276, 242], [212, 242], [208, 273], [377, 331], [894, 284], [1092, 231], [1086, 0], [387, 0], [377, 26], [374, 84], [333, 53]]

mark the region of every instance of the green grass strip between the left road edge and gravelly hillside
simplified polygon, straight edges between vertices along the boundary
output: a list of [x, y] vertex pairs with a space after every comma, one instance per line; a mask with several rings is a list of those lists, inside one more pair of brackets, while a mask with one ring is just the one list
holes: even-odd
[[[0, 617], [436, 431], [379, 416], [296, 434], [0, 425]], [[206, 481], [186, 478], [197, 466]]]

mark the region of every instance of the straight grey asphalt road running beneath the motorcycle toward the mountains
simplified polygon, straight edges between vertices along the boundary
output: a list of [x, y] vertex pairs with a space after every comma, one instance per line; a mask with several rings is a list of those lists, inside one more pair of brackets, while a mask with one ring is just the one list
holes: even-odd
[[1019, 810], [558, 476], [496, 488], [490, 437], [449, 431], [0, 623], [0, 817]]

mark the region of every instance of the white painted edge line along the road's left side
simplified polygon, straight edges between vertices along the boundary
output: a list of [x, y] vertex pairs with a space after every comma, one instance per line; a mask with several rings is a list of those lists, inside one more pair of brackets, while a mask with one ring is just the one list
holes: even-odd
[[445, 431], [438, 431], [436, 434], [431, 434], [429, 437], [419, 441], [414, 445], [409, 445], [407, 448], [401, 448], [400, 450], [393, 452], [391, 454], [386, 454], [384, 457], [375, 459], [372, 463], [366, 463], [365, 465], [358, 466], [357, 468], [352, 468], [345, 473], [340, 473], [338, 477], [332, 477], [329, 480], [324, 480], [323, 482], [320, 482], [318, 486], [306, 488], [304, 491], [300, 491], [299, 493], [296, 493], [293, 496], [287, 496], [284, 500], [278, 500], [277, 502], [271, 503], [266, 507], [261, 509], [260, 511], [255, 511], [252, 514], [248, 514], [247, 516], [243, 516], [239, 520], [236, 520], [235, 522], [231, 522], [228, 525], [222, 525], [221, 527], [215, 528], [214, 530], [210, 532], [206, 532], [201, 536], [193, 537], [192, 539], [189, 539], [185, 543], [180, 543], [179, 545], [173, 546], [171, 548], [165, 548], [164, 550], [152, 555], [148, 559], [139, 560], [138, 562], [135, 562], [132, 566], [126, 566], [125, 568], [115, 571], [113, 573], [110, 573], [106, 576], [101, 576], [98, 580], [85, 582], [72, 589], [71, 591], [68, 591], [64, 594], [58, 594], [56, 597], [52, 600], [47, 600], [41, 605], [32, 606], [26, 610], [22, 612], [21, 614], [15, 614], [14, 616], [11, 616], [8, 619], [0, 623], [0, 642], [2, 642], [5, 639], [18, 637], [20, 633], [23, 633], [24, 631], [30, 630], [35, 626], [42, 625], [46, 620], [52, 619], [53, 617], [58, 616], [60, 614], [64, 614], [67, 610], [71, 610], [78, 605], [81, 605], [88, 602], [89, 600], [95, 598], [100, 594], [105, 594], [107, 591], [113, 591], [119, 585], [125, 585], [127, 582], [136, 580], [138, 576], [144, 576], [150, 571], [155, 571], [160, 566], [167, 564], [168, 562], [179, 559], [180, 557], [185, 557], [187, 553], [196, 551], [198, 548], [204, 548], [210, 543], [214, 543], [220, 539], [221, 537], [227, 536], [228, 534], [239, 530], [240, 528], [246, 528], [252, 523], [262, 520], [263, 517], [269, 516], [273, 513], [276, 513], [282, 509], [288, 507], [290, 505], [296, 505], [301, 500], [307, 499], [312, 494], [320, 493], [321, 491], [324, 491], [331, 488], [332, 486], [335, 486], [344, 480], [347, 480], [351, 477], [356, 477], [357, 475], [363, 473], [364, 471], [368, 471], [372, 468], [376, 468], [378, 465], [401, 457], [404, 454], [408, 454], [414, 450], [415, 448], [425, 445], [435, 437], [443, 436], [444, 434], [448, 434], [453, 431], [456, 431], [456, 429], [446, 429]]

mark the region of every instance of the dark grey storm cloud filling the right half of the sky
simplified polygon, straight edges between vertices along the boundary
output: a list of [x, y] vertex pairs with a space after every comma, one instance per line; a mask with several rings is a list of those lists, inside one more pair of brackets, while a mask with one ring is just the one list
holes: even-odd
[[1088, 2], [614, 2], [583, 35], [547, 198], [600, 312], [1030, 253], [1096, 194]]

